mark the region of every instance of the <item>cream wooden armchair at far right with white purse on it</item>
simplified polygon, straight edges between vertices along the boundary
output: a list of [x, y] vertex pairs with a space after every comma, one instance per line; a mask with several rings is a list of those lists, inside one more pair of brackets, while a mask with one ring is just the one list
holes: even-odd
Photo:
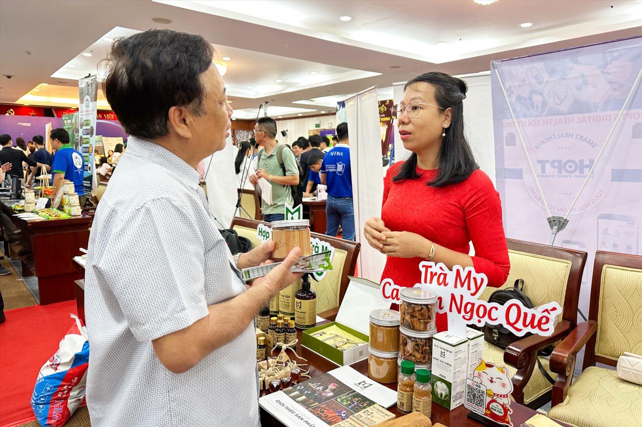
[[[612, 369], [625, 352], [642, 355], [642, 256], [598, 251], [589, 320], [553, 350], [550, 417], [582, 427], [642, 425], [642, 385]], [[573, 382], [578, 351], [586, 344], [582, 374]]]

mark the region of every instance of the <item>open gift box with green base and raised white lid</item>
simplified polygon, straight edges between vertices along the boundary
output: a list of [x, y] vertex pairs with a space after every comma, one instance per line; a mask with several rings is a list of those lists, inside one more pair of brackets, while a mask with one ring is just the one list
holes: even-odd
[[[390, 303], [379, 296], [379, 285], [373, 281], [349, 276], [350, 283], [343, 296], [334, 322], [305, 330], [301, 334], [303, 346], [337, 365], [351, 365], [368, 358], [370, 312], [377, 308], [388, 308]], [[311, 334], [335, 325], [365, 341], [360, 346], [340, 351], [318, 340]]]

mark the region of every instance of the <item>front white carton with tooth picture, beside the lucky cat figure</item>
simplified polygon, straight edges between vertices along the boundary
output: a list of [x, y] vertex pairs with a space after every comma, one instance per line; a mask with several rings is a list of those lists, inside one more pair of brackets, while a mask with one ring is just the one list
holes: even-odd
[[453, 410], [464, 403], [468, 339], [448, 331], [433, 337], [433, 402]]

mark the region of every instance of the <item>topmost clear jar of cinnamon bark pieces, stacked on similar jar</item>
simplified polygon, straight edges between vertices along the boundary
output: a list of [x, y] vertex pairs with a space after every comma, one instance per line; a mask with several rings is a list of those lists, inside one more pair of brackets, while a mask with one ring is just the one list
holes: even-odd
[[426, 289], [404, 288], [399, 292], [401, 326], [411, 331], [432, 331], [437, 326], [437, 296]]

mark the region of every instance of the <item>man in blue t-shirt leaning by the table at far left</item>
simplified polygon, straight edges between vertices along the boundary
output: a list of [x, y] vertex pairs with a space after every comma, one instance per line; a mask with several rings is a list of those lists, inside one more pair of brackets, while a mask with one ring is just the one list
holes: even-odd
[[64, 180], [73, 181], [80, 206], [83, 206], [85, 204], [85, 187], [83, 186], [85, 160], [69, 144], [69, 133], [63, 128], [52, 130], [49, 139], [51, 139], [51, 147], [56, 150], [56, 154], [53, 156], [53, 165], [51, 166], [51, 169], [53, 169], [53, 187], [55, 187], [53, 194], [58, 194], [58, 188], [62, 187]]

